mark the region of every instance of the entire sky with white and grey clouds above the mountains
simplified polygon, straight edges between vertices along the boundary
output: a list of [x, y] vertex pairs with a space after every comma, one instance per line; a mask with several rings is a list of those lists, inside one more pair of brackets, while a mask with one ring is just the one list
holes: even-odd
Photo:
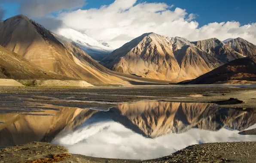
[[0, 0], [0, 18], [24, 14], [50, 30], [65, 25], [114, 48], [148, 32], [256, 44], [255, 7], [255, 0]]

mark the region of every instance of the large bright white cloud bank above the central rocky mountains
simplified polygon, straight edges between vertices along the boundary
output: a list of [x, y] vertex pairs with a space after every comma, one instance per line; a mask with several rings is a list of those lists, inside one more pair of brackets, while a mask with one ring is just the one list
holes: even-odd
[[180, 36], [191, 41], [216, 37], [243, 37], [256, 44], [256, 23], [213, 22], [199, 27], [197, 15], [166, 3], [138, 3], [137, 0], [115, 0], [99, 9], [62, 12], [58, 19], [67, 26], [119, 48], [131, 38], [155, 32], [164, 36]]

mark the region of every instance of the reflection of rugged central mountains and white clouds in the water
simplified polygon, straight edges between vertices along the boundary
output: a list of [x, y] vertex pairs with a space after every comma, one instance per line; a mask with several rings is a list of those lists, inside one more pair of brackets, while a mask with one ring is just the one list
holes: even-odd
[[97, 112], [81, 126], [59, 133], [52, 143], [74, 154], [151, 159], [199, 143], [256, 141], [256, 136], [238, 134], [255, 121], [253, 109], [140, 101]]

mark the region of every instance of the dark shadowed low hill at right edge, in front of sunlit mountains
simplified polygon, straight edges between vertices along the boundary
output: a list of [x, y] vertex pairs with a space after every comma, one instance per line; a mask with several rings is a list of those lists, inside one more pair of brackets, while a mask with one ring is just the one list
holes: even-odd
[[233, 60], [214, 69], [194, 80], [189, 84], [213, 84], [216, 82], [250, 83], [256, 82], [256, 56], [244, 57]]

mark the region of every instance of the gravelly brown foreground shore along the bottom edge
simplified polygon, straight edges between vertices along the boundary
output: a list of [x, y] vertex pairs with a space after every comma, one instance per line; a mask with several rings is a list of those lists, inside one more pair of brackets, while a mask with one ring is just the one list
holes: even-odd
[[0, 150], [1, 163], [255, 163], [256, 142], [229, 142], [192, 145], [155, 160], [117, 160], [69, 154], [67, 149], [32, 142]]

